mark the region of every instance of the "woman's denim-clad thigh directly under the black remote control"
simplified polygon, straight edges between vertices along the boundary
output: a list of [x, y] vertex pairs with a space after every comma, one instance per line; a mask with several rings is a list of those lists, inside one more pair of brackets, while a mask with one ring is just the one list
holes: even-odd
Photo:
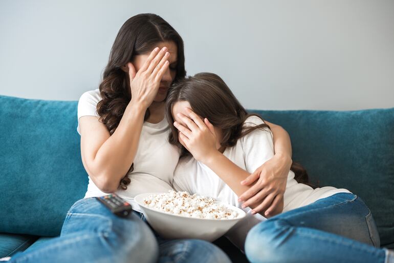
[[139, 262], [154, 262], [159, 254], [157, 239], [138, 212], [119, 217], [94, 197], [74, 203], [64, 219], [60, 237], [82, 233], [102, 236], [106, 246]]

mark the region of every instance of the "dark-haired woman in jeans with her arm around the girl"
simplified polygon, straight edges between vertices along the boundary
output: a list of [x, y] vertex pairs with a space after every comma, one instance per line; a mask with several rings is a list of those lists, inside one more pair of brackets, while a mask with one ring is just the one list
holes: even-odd
[[[10, 262], [230, 262], [227, 255], [199, 239], [163, 239], [147, 224], [134, 196], [171, 190], [179, 149], [168, 142], [164, 118], [167, 90], [185, 77], [183, 41], [163, 18], [129, 18], [113, 44], [98, 89], [78, 102], [81, 157], [89, 174], [83, 199], [64, 219], [60, 237], [42, 242]], [[291, 164], [290, 139], [277, 127], [278, 154], [256, 170], [282, 195]], [[121, 218], [97, 196], [116, 193], [134, 212]], [[271, 207], [277, 204], [272, 203]]]

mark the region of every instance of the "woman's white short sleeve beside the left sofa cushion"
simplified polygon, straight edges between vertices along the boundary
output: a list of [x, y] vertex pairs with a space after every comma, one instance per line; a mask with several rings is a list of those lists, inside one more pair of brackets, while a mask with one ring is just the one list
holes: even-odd
[[99, 89], [86, 91], [81, 95], [78, 100], [78, 127], [77, 132], [81, 135], [81, 129], [79, 128], [79, 118], [82, 116], [97, 116], [97, 104], [100, 102], [100, 91]]

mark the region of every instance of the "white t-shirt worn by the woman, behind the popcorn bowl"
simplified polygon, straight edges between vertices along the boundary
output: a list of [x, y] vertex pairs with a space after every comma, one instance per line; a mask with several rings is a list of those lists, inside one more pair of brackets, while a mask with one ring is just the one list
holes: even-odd
[[[78, 102], [79, 118], [82, 116], [99, 116], [96, 111], [97, 103], [101, 100], [99, 89], [86, 91]], [[164, 118], [160, 123], [144, 122], [134, 157], [134, 170], [128, 174], [131, 182], [126, 190], [118, 190], [116, 194], [129, 201], [133, 209], [141, 212], [134, 197], [141, 193], [168, 192], [171, 190], [172, 177], [177, 166], [180, 150], [168, 142], [169, 126]], [[89, 176], [89, 184], [84, 198], [107, 195], [93, 183]]]

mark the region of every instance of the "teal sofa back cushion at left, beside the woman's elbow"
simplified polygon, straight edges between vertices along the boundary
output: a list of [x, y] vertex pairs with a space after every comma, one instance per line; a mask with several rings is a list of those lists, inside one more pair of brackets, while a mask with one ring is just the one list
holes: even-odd
[[56, 236], [83, 197], [77, 102], [0, 96], [0, 232]]

